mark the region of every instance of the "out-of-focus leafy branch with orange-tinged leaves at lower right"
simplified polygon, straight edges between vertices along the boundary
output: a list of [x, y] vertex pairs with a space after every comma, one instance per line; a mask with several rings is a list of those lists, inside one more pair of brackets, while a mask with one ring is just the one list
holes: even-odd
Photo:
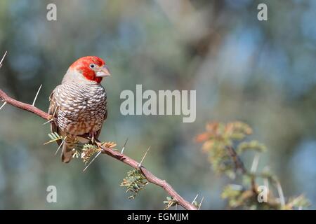
[[[245, 123], [213, 122], [207, 123], [206, 132], [196, 138], [197, 141], [203, 142], [202, 150], [209, 154], [209, 161], [217, 174], [226, 174], [231, 179], [236, 179], [237, 175], [241, 174], [242, 184], [230, 184], [223, 189], [222, 197], [228, 199], [229, 207], [235, 209], [308, 207], [310, 202], [303, 195], [289, 198], [286, 202], [277, 176], [268, 171], [256, 172], [258, 153], [264, 152], [265, 146], [258, 141], [244, 141], [250, 134], [252, 134], [251, 127]], [[241, 159], [246, 151], [256, 153], [250, 170], [246, 169]], [[263, 180], [264, 186], [259, 186], [257, 179]], [[279, 197], [273, 195], [272, 189], [268, 188], [269, 181], [277, 189]]]

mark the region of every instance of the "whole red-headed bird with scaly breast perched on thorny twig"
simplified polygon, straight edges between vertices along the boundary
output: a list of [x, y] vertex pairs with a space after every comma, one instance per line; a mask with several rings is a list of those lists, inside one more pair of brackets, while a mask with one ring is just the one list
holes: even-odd
[[81, 57], [70, 65], [51, 93], [48, 114], [53, 120], [51, 132], [62, 136], [56, 141], [58, 146], [62, 144], [62, 162], [70, 162], [78, 143], [98, 139], [107, 119], [107, 93], [101, 81], [108, 76], [110, 71], [103, 59]]

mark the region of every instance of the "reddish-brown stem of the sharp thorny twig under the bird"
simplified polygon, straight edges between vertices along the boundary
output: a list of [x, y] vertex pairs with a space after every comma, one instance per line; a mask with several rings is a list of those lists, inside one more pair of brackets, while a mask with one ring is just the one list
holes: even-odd
[[[4, 102], [7, 102], [8, 104], [11, 104], [12, 106], [15, 106], [19, 109], [32, 112], [36, 114], [37, 116], [43, 118], [44, 120], [51, 120], [51, 116], [48, 115], [48, 113], [45, 113], [44, 111], [41, 111], [35, 106], [25, 104], [22, 102], [19, 102], [15, 99], [12, 99], [11, 97], [8, 97], [4, 91], [0, 90], [0, 99], [3, 99]], [[157, 185], [161, 188], [163, 188], [166, 193], [168, 193], [178, 204], [180, 204], [183, 208], [188, 210], [197, 210], [195, 206], [190, 204], [190, 202], [187, 202], [186, 200], [181, 197], [176, 190], [174, 190], [169, 183], [166, 181], [159, 179], [157, 176], [154, 176], [151, 172], [149, 172], [145, 167], [141, 166], [138, 167], [140, 164], [136, 160], [133, 160], [129, 158], [128, 156], [119, 153], [117, 151], [114, 151], [112, 148], [105, 148], [104, 146], [100, 146], [101, 152], [107, 155], [110, 155], [112, 158], [115, 158], [121, 162], [124, 162], [126, 165], [129, 165], [130, 167], [133, 167], [135, 169], [140, 169], [141, 172], [143, 172], [143, 175], [147, 179], [148, 182], [153, 183], [154, 185]]]

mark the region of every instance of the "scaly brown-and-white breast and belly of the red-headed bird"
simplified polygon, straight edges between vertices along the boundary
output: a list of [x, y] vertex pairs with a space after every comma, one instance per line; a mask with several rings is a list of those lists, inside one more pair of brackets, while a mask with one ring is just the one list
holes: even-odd
[[107, 96], [97, 83], [63, 83], [56, 88], [58, 127], [81, 135], [100, 130], [107, 111]]

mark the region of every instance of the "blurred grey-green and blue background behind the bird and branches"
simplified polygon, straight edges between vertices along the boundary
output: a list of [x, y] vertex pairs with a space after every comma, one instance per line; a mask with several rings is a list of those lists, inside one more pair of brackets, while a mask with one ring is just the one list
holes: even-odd
[[[46, 20], [55, 3], [57, 21]], [[258, 3], [268, 21], [257, 20]], [[258, 169], [270, 167], [286, 197], [304, 193], [316, 204], [316, 1], [157, 0], [0, 1], [0, 87], [47, 111], [48, 96], [68, 66], [85, 55], [106, 60], [109, 116], [100, 139], [166, 179], [202, 209], [225, 209], [216, 176], [193, 140], [207, 121], [242, 120], [268, 146]], [[197, 120], [122, 116], [122, 90], [197, 90]], [[106, 155], [86, 172], [64, 165], [48, 141], [49, 125], [6, 105], [0, 111], [0, 209], [162, 209], [166, 193], [146, 186], [129, 200], [121, 180], [130, 169]], [[246, 166], [252, 158], [245, 158]], [[57, 203], [46, 202], [56, 186]]]

